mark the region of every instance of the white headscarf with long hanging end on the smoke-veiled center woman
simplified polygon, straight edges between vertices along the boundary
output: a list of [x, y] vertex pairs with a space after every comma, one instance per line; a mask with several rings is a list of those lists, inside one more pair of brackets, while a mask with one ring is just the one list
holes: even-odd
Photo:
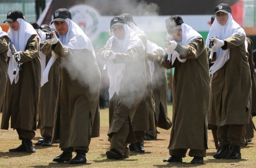
[[[115, 39], [115, 43], [113, 44], [113, 52], [120, 52], [120, 53], [126, 53], [128, 49], [143, 46], [143, 49], [145, 50], [145, 47], [141, 40], [138, 38], [136, 33], [128, 27], [127, 24], [124, 24], [124, 30], [125, 30], [125, 37], [123, 40], [119, 40], [114, 34], [108, 42], [106, 43], [106, 49], [109, 48], [110, 43], [112, 42], [112, 39]], [[110, 78], [110, 99], [113, 97], [114, 93], [116, 92], [119, 94], [120, 90], [120, 82], [123, 78], [124, 71], [125, 71], [125, 64], [114, 64], [113, 59], [108, 61], [107, 64], [107, 71]]]

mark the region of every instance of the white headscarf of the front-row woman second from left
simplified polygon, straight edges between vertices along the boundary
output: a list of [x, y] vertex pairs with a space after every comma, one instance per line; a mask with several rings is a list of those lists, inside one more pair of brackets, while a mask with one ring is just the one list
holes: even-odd
[[96, 59], [96, 55], [91, 44], [90, 39], [82, 31], [82, 29], [76, 25], [71, 19], [66, 18], [65, 22], [68, 25], [68, 31], [66, 34], [60, 34], [60, 41], [66, 48], [70, 49], [87, 49], [93, 52], [93, 56]]

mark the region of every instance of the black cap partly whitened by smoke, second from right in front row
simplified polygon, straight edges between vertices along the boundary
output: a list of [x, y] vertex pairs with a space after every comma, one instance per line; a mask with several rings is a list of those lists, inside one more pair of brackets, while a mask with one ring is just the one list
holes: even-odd
[[176, 29], [181, 29], [181, 24], [183, 23], [183, 19], [179, 15], [173, 15], [165, 20], [165, 26], [168, 33], [171, 33]]

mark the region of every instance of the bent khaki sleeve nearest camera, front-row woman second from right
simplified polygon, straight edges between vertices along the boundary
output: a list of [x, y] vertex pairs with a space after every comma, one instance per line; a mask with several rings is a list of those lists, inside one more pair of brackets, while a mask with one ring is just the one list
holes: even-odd
[[205, 49], [205, 44], [202, 38], [194, 39], [186, 46], [177, 44], [175, 51], [180, 54], [181, 59], [197, 59]]

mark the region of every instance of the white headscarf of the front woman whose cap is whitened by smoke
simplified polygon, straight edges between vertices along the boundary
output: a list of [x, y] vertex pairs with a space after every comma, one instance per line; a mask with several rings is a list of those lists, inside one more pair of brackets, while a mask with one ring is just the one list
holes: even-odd
[[[168, 32], [166, 35], [166, 38], [169, 36]], [[197, 38], [202, 38], [201, 34], [199, 34], [197, 31], [195, 31], [191, 26], [182, 24], [182, 41], [177, 42], [177, 44], [180, 44], [182, 46], [186, 46], [188, 43], [192, 42], [194, 39]], [[166, 49], [166, 52], [168, 54], [168, 57], [171, 55], [171, 50]], [[187, 59], [181, 59], [180, 54], [176, 52], [175, 50], [173, 51], [173, 56], [172, 56], [172, 65], [174, 64], [175, 59], [178, 59], [180, 62], [185, 62]]]

